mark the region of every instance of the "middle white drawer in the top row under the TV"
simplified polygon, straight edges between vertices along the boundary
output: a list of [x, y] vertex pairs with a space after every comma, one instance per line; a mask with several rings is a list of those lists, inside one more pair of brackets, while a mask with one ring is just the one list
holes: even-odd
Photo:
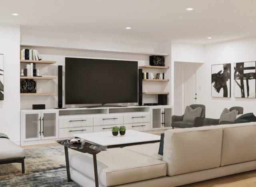
[[100, 125], [114, 125], [114, 124], [123, 124], [124, 118], [122, 115], [115, 115], [115, 116], [95, 116], [93, 118], [93, 125], [100, 126]]

